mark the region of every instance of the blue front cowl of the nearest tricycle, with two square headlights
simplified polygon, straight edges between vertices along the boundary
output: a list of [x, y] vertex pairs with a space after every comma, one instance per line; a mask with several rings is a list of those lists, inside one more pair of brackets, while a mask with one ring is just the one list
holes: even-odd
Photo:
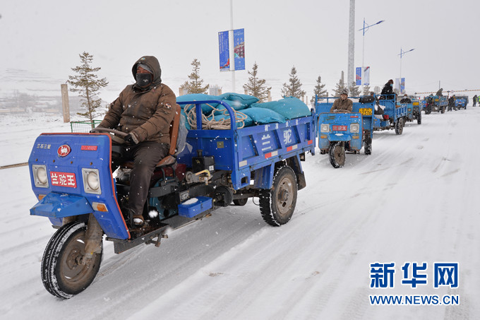
[[[57, 150], [61, 146], [71, 148], [70, 153], [59, 155]], [[30, 214], [48, 217], [53, 225], [61, 226], [65, 217], [93, 213], [108, 237], [128, 239], [130, 235], [116, 201], [110, 168], [111, 146], [109, 134], [40, 135], [32, 148], [28, 165], [32, 190], [37, 198], [43, 198], [30, 209]], [[46, 167], [47, 188], [35, 184], [33, 165]], [[100, 194], [85, 191], [82, 168], [98, 170]], [[94, 207], [98, 207], [93, 206], [94, 202], [103, 204], [107, 212], [95, 211]]]

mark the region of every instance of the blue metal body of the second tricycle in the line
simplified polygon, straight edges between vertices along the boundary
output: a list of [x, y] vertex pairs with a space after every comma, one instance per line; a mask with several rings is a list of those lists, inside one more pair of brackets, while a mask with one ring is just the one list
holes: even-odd
[[[326, 102], [319, 102], [316, 98], [318, 148], [328, 150], [332, 142], [348, 141], [347, 150], [359, 151], [364, 146], [364, 134], [372, 137], [375, 102], [353, 102], [352, 113], [330, 113], [333, 105], [330, 101], [335, 99], [326, 97]], [[359, 132], [352, 133], [351, 124], [359, 124]], [[325, 125], [328, 125], [328, 131]]]

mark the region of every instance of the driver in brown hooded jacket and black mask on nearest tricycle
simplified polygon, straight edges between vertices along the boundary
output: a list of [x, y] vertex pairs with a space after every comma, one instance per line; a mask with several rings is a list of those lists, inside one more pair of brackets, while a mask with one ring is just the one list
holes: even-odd
[[144, 56], [132, 67], [136, 83], [127, 85], [109, 107], [100, 128], [118, 129], [128, 134], [130, 145], [125, 154], [112, 163], [112, 171], [122, 162], [133, 160], [128, 194], [128, 211], [133, 225], [143, 225], [143, 206], [148, 197], [150, 179], [157, 163], [169, 151], [169, 129], [174, 119], [176, 97], [162, 83], [157, 58]]

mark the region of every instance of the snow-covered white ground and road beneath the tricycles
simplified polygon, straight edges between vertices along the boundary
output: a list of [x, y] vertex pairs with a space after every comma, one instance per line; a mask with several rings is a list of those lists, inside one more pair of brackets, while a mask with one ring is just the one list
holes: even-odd
[[[159, 248], [116, 255], [104, 242], [97, 278], [71, 300], [40, 280], [54, 229], [29, 215], [28, 167], [0, 170], [0, 319], [480, 319], [480, 107], [423, 116], [401, 136], [375, 133], [372, 155], [348, 154], [340, 169], [307, 155], [307, 187], [282, 227], [248, 201], [171, 232]], [[47, 120], [0, 118], [0, 165], [27, 162], [41, 132], [70, 131]], [[395, 263], [394, 288], [371, 288], [375, 262]], [[402, 284], [424, 262], [427, 283]], [[458, 263], [457, 288], [434, 288], [436, 262]], [[460, 304], [378, 306], [369, 295]]]

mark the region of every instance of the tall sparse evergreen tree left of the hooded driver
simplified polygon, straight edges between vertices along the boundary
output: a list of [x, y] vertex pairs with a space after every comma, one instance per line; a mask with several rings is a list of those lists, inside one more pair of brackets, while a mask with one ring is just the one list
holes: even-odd
[[79, 56], [82, 64], [75, 68], [71, 68], [72, 71], [78, 74], [75, 76], [68, 76], [67, 83], [73, 85], [73, 88], [70, 88], [72, 92], [79, 93], [81, 107], [87, 110], [84, 113], [77, 112], [77, 114], [90, 119], [93, 127], [93, 119], [100, 115], [100, 112], [98, 112], [97, 109], [102, 103], [102, 99], [97, 96], [97, 93], [100, 89], [106, 87], [108, 82], [106, 78], [97, 78], [95, 72], [102, 68], [92, 68], [91, 64], [93, 56], [91, 54], [83, 52], [83, 54], [79, 54]]

